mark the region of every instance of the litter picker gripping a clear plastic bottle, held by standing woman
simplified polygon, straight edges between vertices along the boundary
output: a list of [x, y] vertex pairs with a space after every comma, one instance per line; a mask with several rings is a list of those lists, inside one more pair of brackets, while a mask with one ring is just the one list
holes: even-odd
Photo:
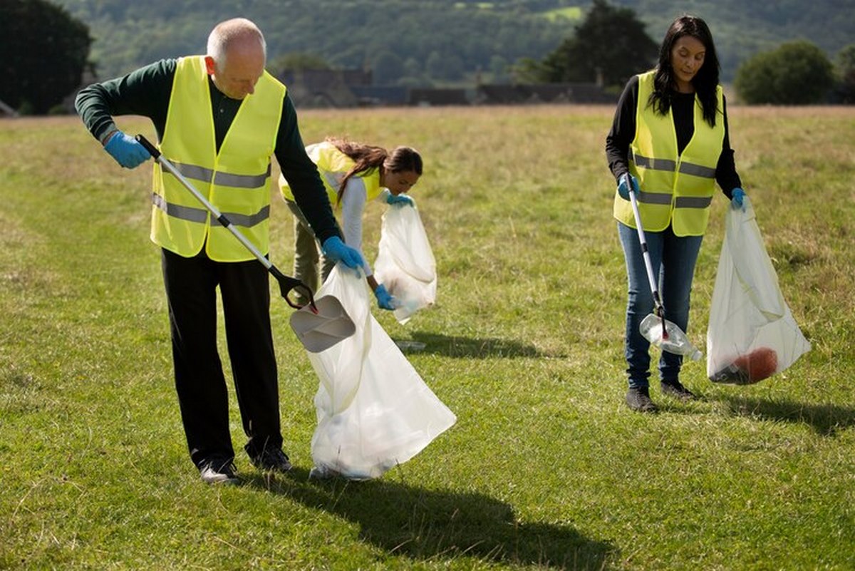
[[653, 294], [655, 312], [655, 315], [647, 315], [641, 321], [639, 326], [640, 332], [651, 344], [656, 345], [659, 349], [668, 351], [669, 353], [676, 353], [677, 355], [686, 355], [691, 357], [693, 361], [698, 361], [703, 356], [701, 352], [689, 341], [686, 333], [680, 327], [677, 327], [673, 321], [665, 319], [665, 308], [662, 304], [662, 298], [659, 297], [656, 274], [653, 272], [650, 251], [647, 249], [647, 238], [645, 237], [644, 228], [641, 227], [641, 213], [639, 211], [638, 199], [635, 197], [629, 173], [625, 176], [629, 191], [629, 202], [633, 205], [635, 228], [639, 234], [641, 254], [644, 256], [644, 265], [647, 269], [647, 280], [650, 282], [650, 291]]

